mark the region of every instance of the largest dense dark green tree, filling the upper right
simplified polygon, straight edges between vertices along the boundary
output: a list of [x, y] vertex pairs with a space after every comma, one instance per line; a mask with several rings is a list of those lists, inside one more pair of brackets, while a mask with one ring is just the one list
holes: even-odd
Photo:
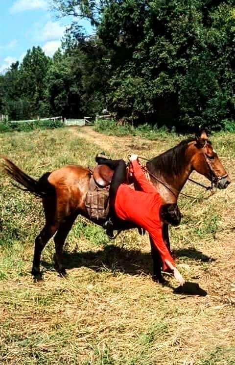
[[178, 130], [234, 118], [234, 12], [233, 1], [110, 1], [98, 35], [112, 55], [111, 109]]

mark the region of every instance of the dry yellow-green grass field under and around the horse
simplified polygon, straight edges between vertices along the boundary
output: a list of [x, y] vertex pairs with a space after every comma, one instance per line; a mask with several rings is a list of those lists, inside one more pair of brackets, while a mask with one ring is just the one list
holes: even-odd
[[[183, 139], [105, 136], [91, 127], [0, 134], [0, 154], [32, 177], [67, 163], [94, 165], [105, 150], [156, 156]], [[234, 180], [235, 136], [220, 133], [213, 147]], [[194, 174], [199, 181], [206, 180]], [[206, 194], [187, 183], [185, 192]], [[53, 240], [41, 269], [30, 275], [34, 238], [44, 224], [40, 200], [0, 174], [0, 364], [234, 365], [235, 188], [208, 201], [180, 197], [182, 224], [171, 229], [176, 263], [205, 297], [177, 295], [176, 283], [151, 280], [148, 237], [135, 231], [110, 241], [78, 218], [65, 246], [68, 278], [53, 268]]]

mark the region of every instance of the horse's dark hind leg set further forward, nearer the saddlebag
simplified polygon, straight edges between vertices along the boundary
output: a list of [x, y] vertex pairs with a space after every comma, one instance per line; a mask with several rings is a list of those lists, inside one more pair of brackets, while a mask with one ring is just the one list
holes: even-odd
[[55, 255], [54, 255], [55, 269], [61, 276], [66, 276], [66, 270], [65, 270], [65, 268], [63, 267], [63, 264], [62, 264], [63, 247], [64, 247], [64, 244], [65, 244], [66, 237], [69, 234], [77, 215], [78, 215], [78, 213], [74, 213], [70, 217], [68, 217], [65, 222], [61, 223], [56, 235], [54, 236], [54, 242], [55, 242]]

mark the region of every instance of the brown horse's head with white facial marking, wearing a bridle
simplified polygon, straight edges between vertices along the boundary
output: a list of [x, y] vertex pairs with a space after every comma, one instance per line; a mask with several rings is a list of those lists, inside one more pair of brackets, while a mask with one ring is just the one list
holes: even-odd
[[211, 142], [208, 140], [207, 133], [203, 131], [191, 146], [193, 148], [192, 169], [204, 175], [219, 189], [225, 189], [231, 181]]

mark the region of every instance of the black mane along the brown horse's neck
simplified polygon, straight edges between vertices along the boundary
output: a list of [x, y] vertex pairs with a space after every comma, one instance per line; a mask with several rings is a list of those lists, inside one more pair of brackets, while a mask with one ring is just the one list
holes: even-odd
[[188, 143], [196, 141], [195, 138], [188, 138], [180, 142], [177, 146], [156, 156], [147, 162], [150, 172], [159, 175], [178, 175], [184, 168], [185, 154]]

